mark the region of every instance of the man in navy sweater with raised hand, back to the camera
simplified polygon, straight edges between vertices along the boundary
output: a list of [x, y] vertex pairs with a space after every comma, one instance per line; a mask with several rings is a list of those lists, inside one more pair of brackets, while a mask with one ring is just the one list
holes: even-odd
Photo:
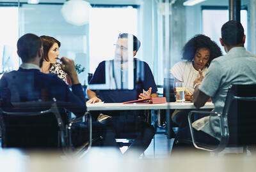
[[[72, 84], [72, 91], [70, 91], [68, 85], [56, 74], [45, 74], [40, 71], [44, 59], [40, 37], [35, 34], [25, 34], [20, 37], [17, 42], [17, 54], [22, 60], [20, 68], [17, 71], [4, 73], [0, 80], [1, 108], [12, 108], [13, 103], [52, 101], [55, 98], [57, 102], [67, 102], [68, 105], [65, 105], [65, 108], [72, 111], [77, 117], [86, 112], [86, 100], [73, 60], [67, 57], [61, 58], [61, 68], [70, 76]], [[60, 108], [60, 110], [63, 109]], [[68, 120], [67, 115], [63, 116], [63, 120]], [[74, 126], [76, 130], [72, 131], [72, 143], [74, 146], [79, 146], [88, 141], [88, 134], [84, 134], [88, 133], [88, 128], [83, 122], [76, 124]], [[95, 125], [93, 125], [93, 129], [94, 127]], [[93, 135], [106, 134], [106, 131], [100, 133], [100, 130], [102, 131], [102, 128], [95, 127]], [[113, 145], [111, 145], [112, 143]], [[116, 146], [115, 138], [104, 138], [103, 145]]]

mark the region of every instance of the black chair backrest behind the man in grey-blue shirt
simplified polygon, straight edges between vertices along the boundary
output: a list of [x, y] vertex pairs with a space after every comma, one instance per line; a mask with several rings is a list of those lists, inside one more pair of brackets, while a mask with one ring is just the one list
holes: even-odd
[[227, 119], [227, 147], [256, 145], [256, 85], [230, 85], [223, 117]]

